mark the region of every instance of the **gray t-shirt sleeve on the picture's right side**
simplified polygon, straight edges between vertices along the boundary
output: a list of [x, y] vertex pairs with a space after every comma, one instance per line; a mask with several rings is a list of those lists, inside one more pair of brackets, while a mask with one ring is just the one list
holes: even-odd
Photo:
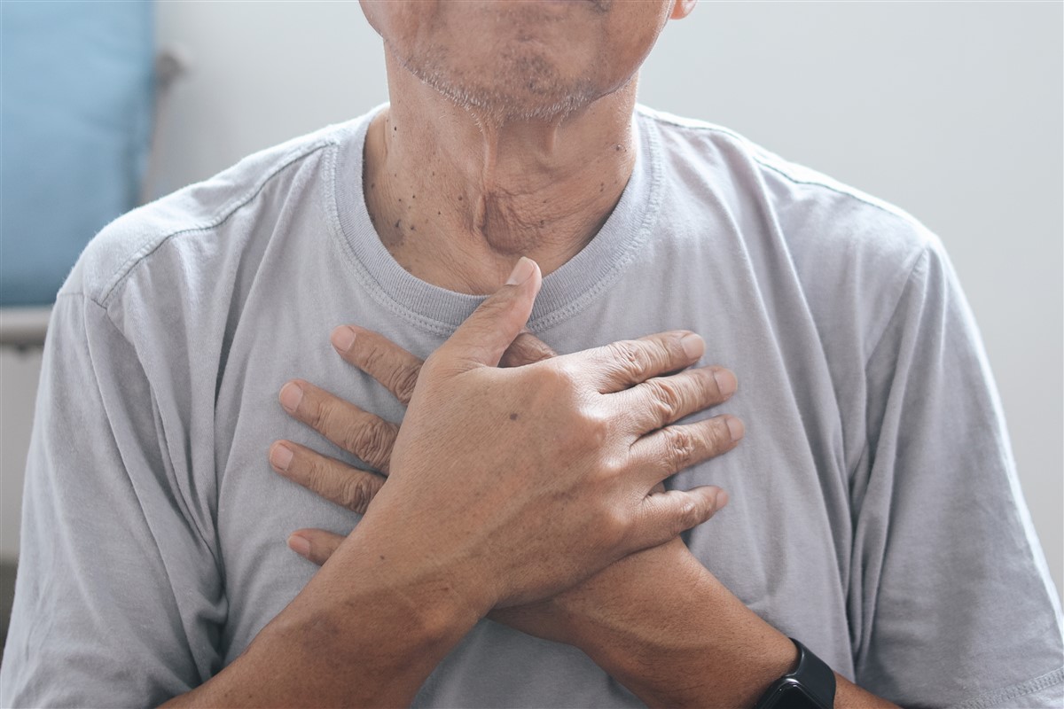
[[925, 247], [866, 368], [857, 682], [905, 707], [1060, 707], [1060, 604], [971, 314]]

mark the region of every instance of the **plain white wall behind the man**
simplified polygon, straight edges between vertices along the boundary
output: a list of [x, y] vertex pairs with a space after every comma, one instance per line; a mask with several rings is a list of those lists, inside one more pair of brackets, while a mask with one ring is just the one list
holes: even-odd
[[[703, 2], [666, 30], [641, 88], [645, 103], [738, 130], [942, 236], [1058, 589], [1062, 21], [1060, 3]], [[353, 2], [163, 2], [159, 37], [193, 66], [166, 106], [156, 195], [386, 99], [380, 39]], [[3, 448], [15, 455], [6, 436]]]

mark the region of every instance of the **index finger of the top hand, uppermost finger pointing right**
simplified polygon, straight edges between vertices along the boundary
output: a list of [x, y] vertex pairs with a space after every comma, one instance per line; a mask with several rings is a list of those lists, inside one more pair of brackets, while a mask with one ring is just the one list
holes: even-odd
[[580, 359], [598, 390], [612, 393], [689, 367], [704, 351], [701, 337], [680, 330], [611, 342], [565, 356]]

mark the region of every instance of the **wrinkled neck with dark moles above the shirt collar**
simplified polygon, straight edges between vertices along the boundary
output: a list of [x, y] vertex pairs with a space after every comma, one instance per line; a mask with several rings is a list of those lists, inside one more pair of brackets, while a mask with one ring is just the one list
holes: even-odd
[[495, 161], [456, 165], [431, 150], [412, 163], [388, 145], [387, 130], [382, 116], [370, 124], [363, 163], [366, 208], [381, 242], [417, 278], [470, 294], [497, 290], [521, 256], [545, 275], [576, 256], [605, 223], [632, 170], [627, 146], [580, 170], [558, 170], [534, 152], [527, 169], [504, 172], [492, 169]]

